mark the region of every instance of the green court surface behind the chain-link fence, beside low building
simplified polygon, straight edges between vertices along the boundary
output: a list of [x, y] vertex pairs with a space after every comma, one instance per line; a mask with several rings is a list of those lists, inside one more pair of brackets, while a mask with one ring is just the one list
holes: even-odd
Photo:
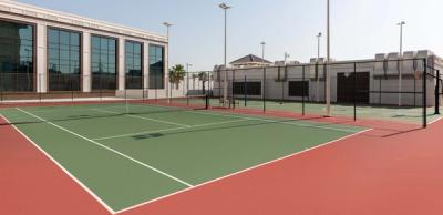
[[[217, 99], [212, 100], [212, 103], [218, 103]], [[258, 100], [247, 100], [245, 106], [245, 100], [237, 100], [238, 108], [258, 109], [262, 110], [264, 103]], [[266, 110], [269, 111], [287, 111], [292, 113], [302, 112], [301, 101], [285, 101], [282, 103], [278, 101], [266, 101]], [[305, 103], [305, 112], [307, 114], [323, 115], [326, 113], [326, 105], [323, 103]], [[336, 116], [348, 116], [353, 117], [353, 105], [349, 104], [332, 104], [331, 112]], [[434, 114], [434, 108], [427, 108], [427, 121], [432, 122], [441, 115]], [[399, 106], [371, 106], [371, 105], [357, 105], [357, 117], [369, 119], [369, 120], [385, 120], [400, 123], [414, 123], [420, 124], [423, 120], [423, 108], [399, 108]]]

